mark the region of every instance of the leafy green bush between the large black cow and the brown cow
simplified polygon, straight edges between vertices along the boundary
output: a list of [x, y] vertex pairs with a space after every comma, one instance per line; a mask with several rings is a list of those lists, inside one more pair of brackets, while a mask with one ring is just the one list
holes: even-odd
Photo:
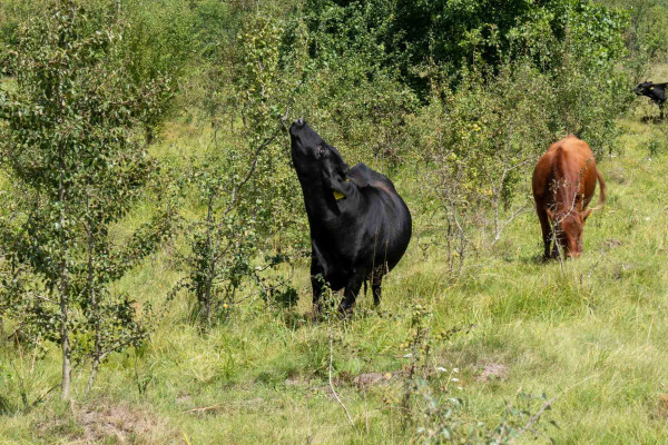
[[520, 179], [557, 137], [549, 128], [550, 79], [530, 63], [504, 66], [487, 85], [475, 72], [462, 77], [455, 91], [434, 82], [429, 106], [411, 122], [414, 145], [424, 147], [423, 194], [440, 202], [426, 211], [441, 218], [423, 230], [441, 234], [453, 271], [471, 248], [498, 241], [522, 211], [514, 200]]

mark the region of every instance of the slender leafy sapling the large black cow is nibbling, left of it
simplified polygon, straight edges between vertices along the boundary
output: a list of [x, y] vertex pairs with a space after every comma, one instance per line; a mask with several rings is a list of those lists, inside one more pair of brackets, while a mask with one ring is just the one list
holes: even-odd
[[[277, 139], [283, 108], [288, 107], [296, 87], [281, 69], [283, 32], [278, 23], [262, 17], [245, 21], [235, 55], [233, 97], [238, 105], [230, 110], [233, 119], [236, 112], [242, 118], [238, 139], [219, 146], [222, 118], [215, 117], [215, 152], [195, 159], [188, 174], [205, 216], [191, 221], [188, 230], [185, 286], [196, 296], [196, 313], [207, 325], [218, 316], [227, 318], [237, 290], [247, 284], [257, 286], [268, 304], [291, 307], [296, 300], [294, 289], [281, 277], [262, 274], [295, 250], [284, 246], [289, 246], [285, 239], [292, 235], [285, 229], [295, 224], [292, 209], [297, 197], [292, 190], [298, 186], [288, 154]], [[219, 112], [217, 108], [208, 111]]]

